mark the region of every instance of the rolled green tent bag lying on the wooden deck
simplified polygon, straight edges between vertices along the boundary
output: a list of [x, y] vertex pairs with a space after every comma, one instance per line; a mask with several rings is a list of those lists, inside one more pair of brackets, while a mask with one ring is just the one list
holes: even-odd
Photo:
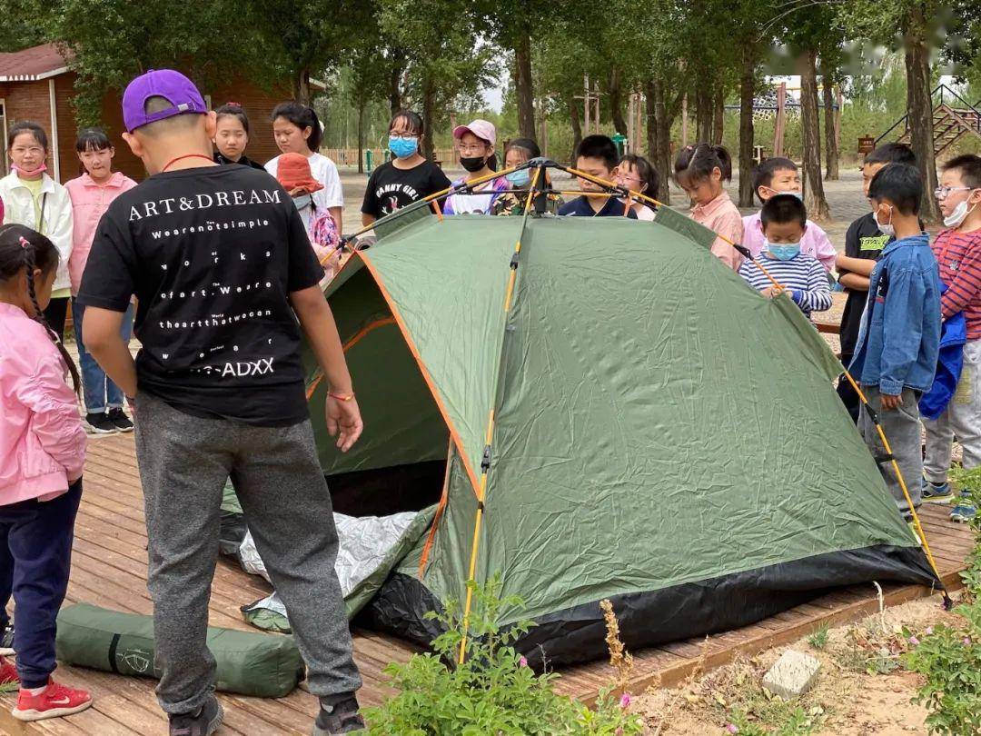
[[[218, 661], [219, 690], [284, 698], [303, 679], [303, 659], [291, 636], [208, 627]], [[159, 678], [153, 619], [97, 605], [76, 604], [58, 614], [58, 658], [66, 664], [122, 675]]]

